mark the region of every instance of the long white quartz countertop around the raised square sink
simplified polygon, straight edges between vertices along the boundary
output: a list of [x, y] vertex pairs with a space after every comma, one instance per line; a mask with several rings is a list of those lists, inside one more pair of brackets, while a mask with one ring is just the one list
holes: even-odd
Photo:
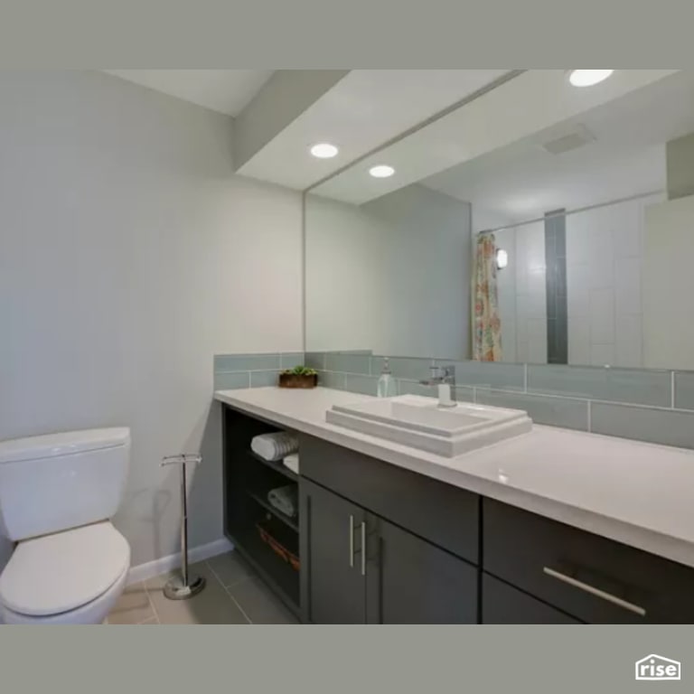
[[371, 399], [316, 389], [218, 390], [214, 398], [282, 427], [694, 567], [694, 451], [534, 425], [529, 434], [445, 458], [328, 424]]

